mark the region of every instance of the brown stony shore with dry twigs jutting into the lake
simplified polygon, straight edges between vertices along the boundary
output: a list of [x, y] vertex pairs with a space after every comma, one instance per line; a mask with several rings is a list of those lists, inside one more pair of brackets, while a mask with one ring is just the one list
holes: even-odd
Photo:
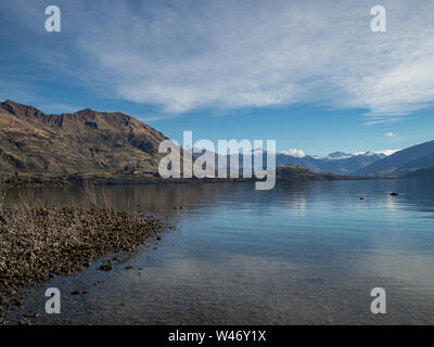
[[0, 324], [5, 310], [23, 304], [23, 290], [81, 271], [110, 252], [161, 240], [166, 227], [156, 217], [111, 208], [0, 208]]

